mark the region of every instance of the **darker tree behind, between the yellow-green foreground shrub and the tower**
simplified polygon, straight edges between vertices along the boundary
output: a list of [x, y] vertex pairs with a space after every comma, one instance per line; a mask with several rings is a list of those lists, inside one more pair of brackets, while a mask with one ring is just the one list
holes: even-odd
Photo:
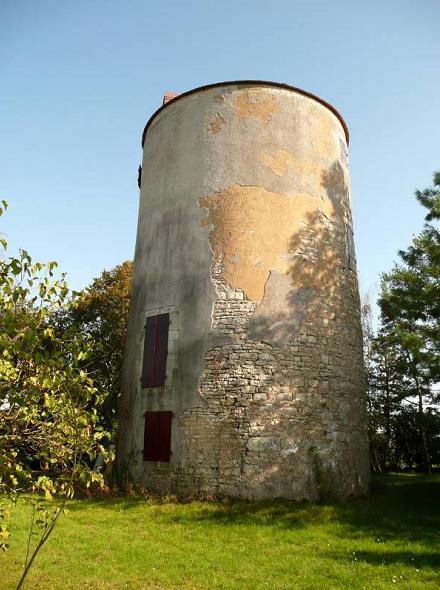
[[63, 330], [68, 327], [93, 341], [94, 346], [88, 351], [88, 370], [95, 383], [108, 392], [99, 417], [101, 424], [113, 434], [121, 390], [131, 277], [132, 263], [128, 260], [104, 271], [57, 315], [56, 322]]

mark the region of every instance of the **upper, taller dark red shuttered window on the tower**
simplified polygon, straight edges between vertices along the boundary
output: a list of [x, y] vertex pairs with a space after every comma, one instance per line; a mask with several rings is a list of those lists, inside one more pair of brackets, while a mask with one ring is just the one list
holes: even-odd
[[142, 362], [142, 387], [160, 387], [165, 383], [169, 326], [169, 313], [147, 318]]

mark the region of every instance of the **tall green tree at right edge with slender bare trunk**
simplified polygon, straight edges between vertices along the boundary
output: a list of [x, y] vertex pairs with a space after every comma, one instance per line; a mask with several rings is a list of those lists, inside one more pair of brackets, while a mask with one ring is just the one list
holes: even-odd
[[[427, 414], [436, 412], [440, 379], [440, 233], [432, 221], [440, 219], [440, 173], [433, 188], [417, 191], [418, 201], [428, 210], [425, 225], [411, 246], [400, 251], [401, 262], [383, 275], [382, 332], [397, 356], [394, 369], [400, 378], [399, 397], [417, 407], [417, 428], [423, 464], [431, 469]], [[415, 400], [415, 402], [414, 402]]]

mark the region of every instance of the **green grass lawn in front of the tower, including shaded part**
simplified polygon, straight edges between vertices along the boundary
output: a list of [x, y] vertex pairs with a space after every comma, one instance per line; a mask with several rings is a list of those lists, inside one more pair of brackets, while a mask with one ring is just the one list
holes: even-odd
[[[440, 477], [420, 475], [344, 504], [74, 501], [26, 588], [438, 589], [439, 512]], [[19, 505], [2, 589], [19, 577], [27, 523]]]

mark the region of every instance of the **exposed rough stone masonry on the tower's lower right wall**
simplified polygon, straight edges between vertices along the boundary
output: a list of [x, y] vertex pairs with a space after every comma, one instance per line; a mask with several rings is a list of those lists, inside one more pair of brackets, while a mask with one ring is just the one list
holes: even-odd
[[[176, 472], [174, 485], [182, 493], [258, 497], [274, 472], [275, 496], [277, 486], [290, 489], [293, 498], [356, 493], [358, 466], [348, 445], [362, 436], [365, 424], [362, 398], [353, 413], [352, 400], [363, 383], [359, 334], [346, 329], [352, 325], [347, 315], [358, 313], [346, 235], [343, 222], [320, 216], [291, 252], [297, 261], [292, 266], [307, 268], [319, 265], [323, 242], [331, 245], [335, 257], [333, 264], [326, 261], [326, 273], [335, 273], [331, 282], [338, 289], [325, 294], [315, 285], [297, 333], [286, 334], [281, 345], [249, 337], [257, 303], [229, 287], [221, 262], [213, 263], [212, 328], [230, 341], [205, 355], [199, 391], [208, 405], [189, 410], [180, 421], [187, 467]], [[328, 287], [325, 277], [320, 281]]]

